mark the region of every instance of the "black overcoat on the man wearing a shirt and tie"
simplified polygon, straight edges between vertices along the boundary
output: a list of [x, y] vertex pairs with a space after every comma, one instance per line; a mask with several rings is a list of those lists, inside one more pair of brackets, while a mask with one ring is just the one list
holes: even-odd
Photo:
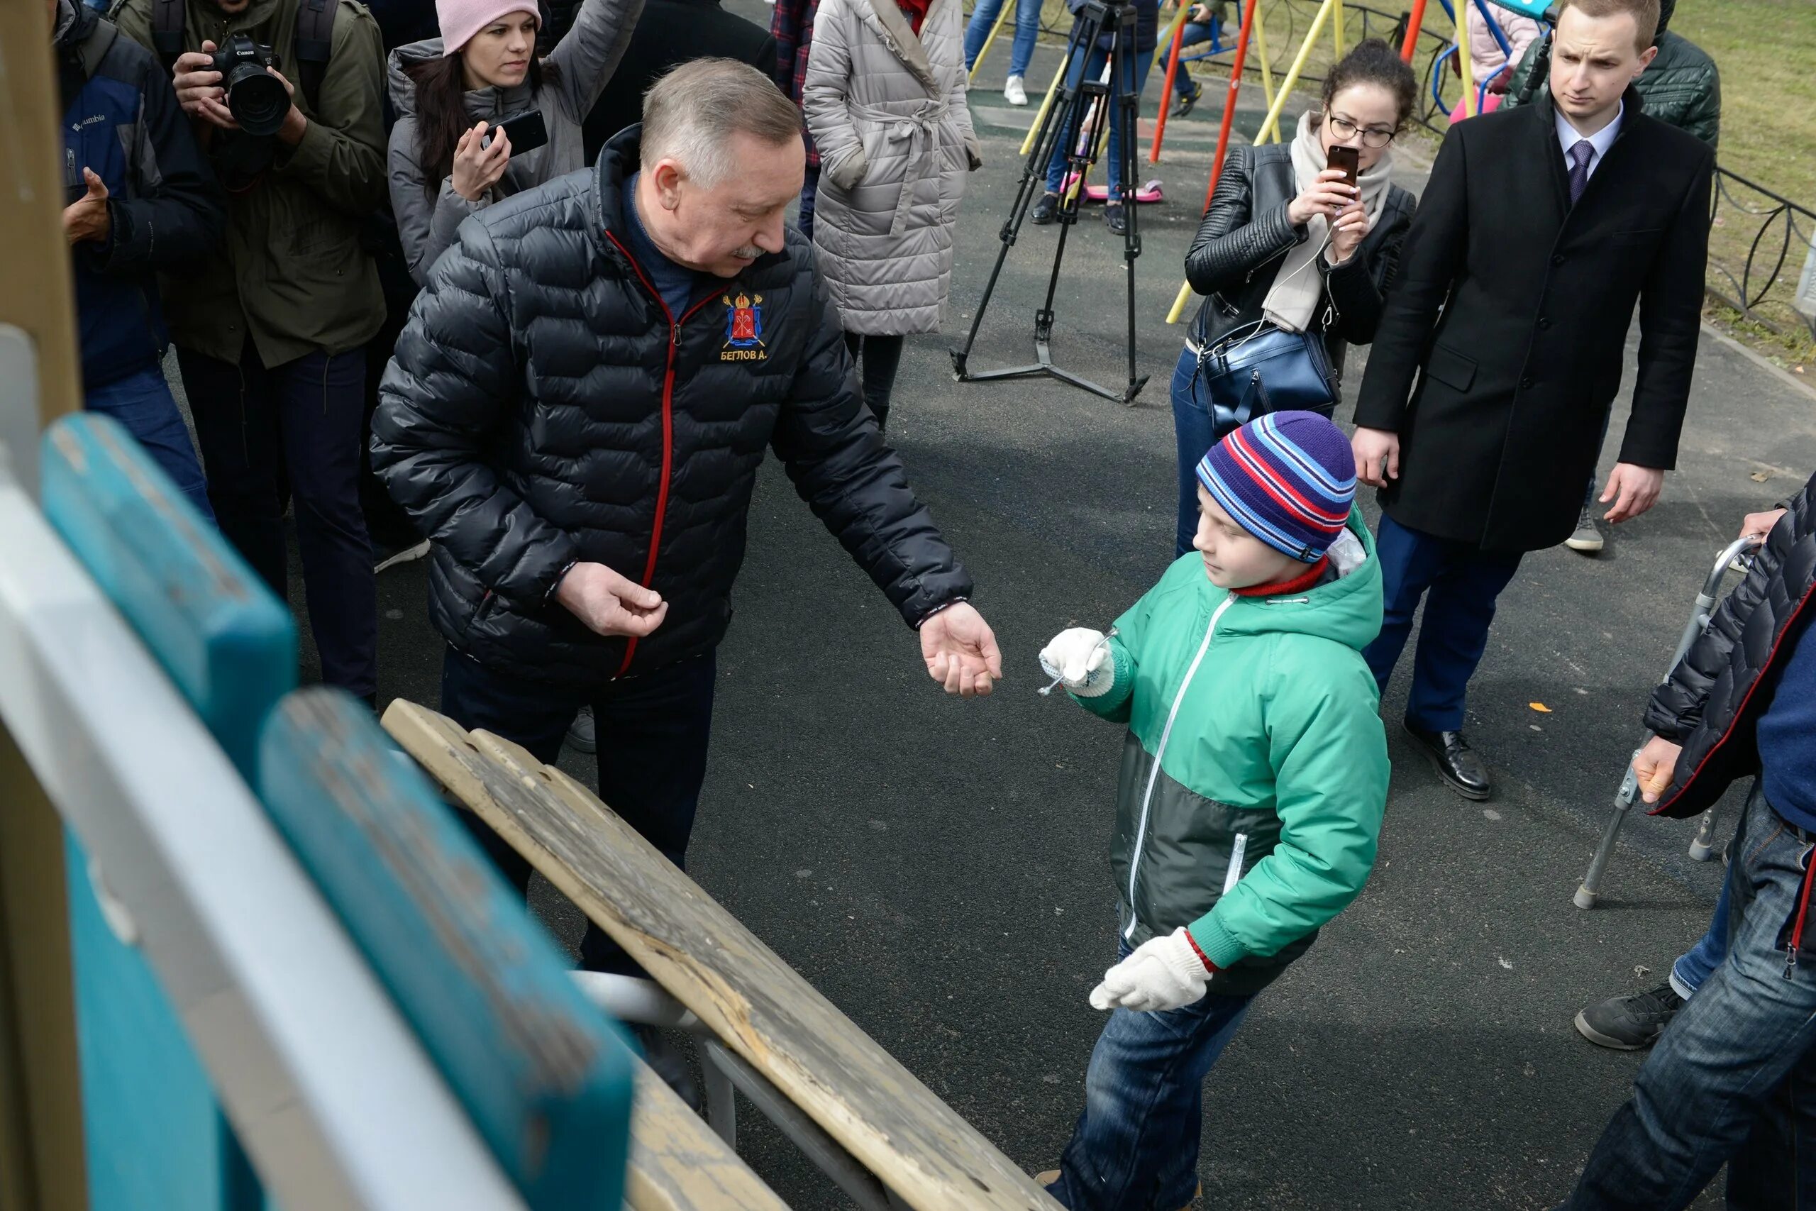
[[1357, 425], [1400, 434], [1395, 521], [1493, 550], [1569, 537], [1636, 301], [1620, 461], [1674, 467], [1712, 171], [1709, 145], [1647, 118], [1633, 89], [1574, 207], [1549, 98], [1451, 127], [1357, 398]]

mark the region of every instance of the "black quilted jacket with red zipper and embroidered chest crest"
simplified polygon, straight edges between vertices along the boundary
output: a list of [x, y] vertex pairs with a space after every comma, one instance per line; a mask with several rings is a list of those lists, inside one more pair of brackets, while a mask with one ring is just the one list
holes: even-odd
[[[459, 229], [380, 383], [372, 468], [434, 539], [430, 615], [481, 665], [548, 683], [710, 650], [765, 447], [908, 623], [972, 581], [859, 401], [812, 247], [757, 260], [670, 318], [625, 252], [637, 129], [596, 169]], [[774, 552], [786, 559], [785, 552]], [[668, 601], [643, 641], [554, 601], [574, 561]]]

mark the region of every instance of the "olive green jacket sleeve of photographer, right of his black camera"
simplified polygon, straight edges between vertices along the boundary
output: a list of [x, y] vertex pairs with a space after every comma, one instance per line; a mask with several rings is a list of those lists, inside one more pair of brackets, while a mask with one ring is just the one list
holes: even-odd
[[358, 218], [385, 205], [383, 60], [378, 22], [363, 7], [343, 4], [334, 15], [320, 113], [296, 87], [294, 102], [309, 127], [296, 147], [278, 143], [272, 160], [274, 172], [305, 182], [329, 205]]

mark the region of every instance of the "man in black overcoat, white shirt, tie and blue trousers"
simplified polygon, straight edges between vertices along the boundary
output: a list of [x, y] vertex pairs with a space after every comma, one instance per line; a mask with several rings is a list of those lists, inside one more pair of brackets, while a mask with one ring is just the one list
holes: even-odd
[[1647, 118], [1633, 80], [1658, 0], [1567, 0], [1551, 94], [1451, 127], [1406, 238], [1357, 399], [1357, 478], [1380, 488], [1386, 690], [1420, 597], [1406, 728], [1467, 799], [1489, 775], [1464, 694], [1520, 556], [1576, 527], [1640, 305], [1640, 372], [1607, 521], [1676, 463], [1709, 251], [1714, 151]]

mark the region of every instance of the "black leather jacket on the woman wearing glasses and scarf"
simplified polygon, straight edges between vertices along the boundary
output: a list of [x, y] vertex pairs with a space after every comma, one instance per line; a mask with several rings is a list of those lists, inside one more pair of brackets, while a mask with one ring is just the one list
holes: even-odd
[[[1260, 320], [1260, 305], [1273, 287], [1278, 263], [1293, 245], [1306, 240], [1306, 229], [1286, 218], [1286, 207], [1297, 196], [1288, 143], [1229, 149], [1217, 192], [1211, 194], [1211, 205], [1186, 252], [1186, 278], [1193, 290], [1206, 296], [1191, 321], [1193, 345], [1215, 345], [1231, 329]], [[1416, 205], [1413, 194], [1389, 185], [1380, 220], [1362, 238], [1357, 254], [1337, 269], [1324, 258], [1317, 261], [1329, 307], [1320, 307], [1311, 325], [1324, 332], [1324, 349], [1338, 389], [1344, 349], [1375, 340], [1382, 300], [1393, 285], [1400, 245], [1406, 243], [1406, 229], [1413, 223]]]

